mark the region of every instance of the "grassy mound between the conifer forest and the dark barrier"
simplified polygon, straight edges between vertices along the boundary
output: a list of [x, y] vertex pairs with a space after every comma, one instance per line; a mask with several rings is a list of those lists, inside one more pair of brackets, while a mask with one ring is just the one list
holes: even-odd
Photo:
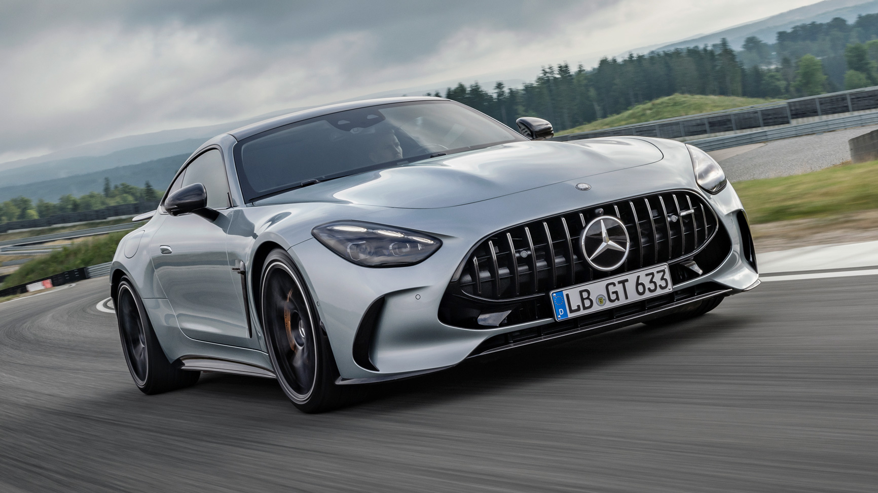
[[631, 125], [664, 118], [685, 117], [697, 115], [709, 111], [730, 110], [752, 104], [771, 103], [778, 99], [759, 99], [753, 97], [738, 96], [702, 96], [692, 94], [675, 94], [673, 96], [659, 97], [649, 103], [637, 104], [628, 111], [618, 115], [602, 118], [587, 125], [581, 125], [570, 130], [558, 132], [558, 135], [574, 132], [587, 132], [589, 130], [601, 130], [612, 126]]

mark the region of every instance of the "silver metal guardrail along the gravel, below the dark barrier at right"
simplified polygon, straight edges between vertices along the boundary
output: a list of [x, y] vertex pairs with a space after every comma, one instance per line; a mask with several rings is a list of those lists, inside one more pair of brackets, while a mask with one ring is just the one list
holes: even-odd
[[716, 151], [717, 149], [725, 149], [728, 147], [746, 146], [748, 144], [758, 144], [759, 142], [788, 139], [790, 137], [801, 137], [802, 135], [832, 132], [833, 130], [844, 130], [846, 128], [855, 128], [866, 125], [878, 125], [878, 111], [863, 115], [820, 120], [802, 125], [774, 128], [771, 130], [736, 133], [734, 135], [723, 135], [721, 137], [711, 137], [709, 139], [689, 140], [687, 143], [697, 146], [703, 151]]

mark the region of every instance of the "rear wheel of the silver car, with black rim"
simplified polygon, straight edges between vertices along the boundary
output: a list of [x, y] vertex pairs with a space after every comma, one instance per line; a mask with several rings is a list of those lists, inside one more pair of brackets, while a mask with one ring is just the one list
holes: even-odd
[[198, 382], [201, 372], [182, 370], [168, 361], [140, 295], [127, 277], [119, 282], [115, 304], [122, 352], [134, 384], [141, 392], [161, 394]]

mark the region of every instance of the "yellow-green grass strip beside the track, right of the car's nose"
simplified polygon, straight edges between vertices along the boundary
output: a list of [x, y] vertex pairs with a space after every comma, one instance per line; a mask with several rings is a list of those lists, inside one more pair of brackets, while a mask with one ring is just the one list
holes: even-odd
[[754, 224], [878, 209], [878, 161], [736, 182], [735, 189]]

